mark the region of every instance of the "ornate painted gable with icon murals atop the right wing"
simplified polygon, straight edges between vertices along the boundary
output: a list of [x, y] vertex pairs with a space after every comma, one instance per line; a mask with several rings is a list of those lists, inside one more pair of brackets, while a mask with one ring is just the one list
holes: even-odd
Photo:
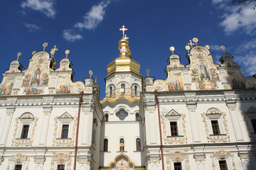
[[[190, 48], [190, 47], [189, 47]], [[167, 78], [144, 79], [146, 91], [191, 91], [191, 90], [220, 90], [220, 89], [255, 89], [256, 79], [244, 77], [238, 64], [233, 62], [233, 56], [224, 53], [220, 58], [221, 65], [213, 62], [210, 47], [196, 44], [188, 50], [188, 64], [184, 67], [178, 55], [169, 57], [165, 72]]]

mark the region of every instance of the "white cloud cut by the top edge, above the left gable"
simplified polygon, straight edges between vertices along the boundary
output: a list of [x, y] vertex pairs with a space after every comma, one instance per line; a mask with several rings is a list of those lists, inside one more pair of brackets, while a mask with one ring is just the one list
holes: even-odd
[[28, 8], [35, 11], [40, 11], [48, 17], [55, 16], [55, 8], [53, 8], [53, 0], [26, 0], [21, 3], [22, 8]]

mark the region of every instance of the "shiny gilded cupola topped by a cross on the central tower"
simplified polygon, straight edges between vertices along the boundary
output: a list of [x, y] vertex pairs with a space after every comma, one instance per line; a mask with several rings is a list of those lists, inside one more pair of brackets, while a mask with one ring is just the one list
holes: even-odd
[[107, 77], [114, 72], [133, 72], [139, 74], [140, 64], [132, 60], [131, 51], [129, 50], [129, 41], [127, 35], [124, 34], [124, 30], [127, 28], [120, 28], [123, 32], [122, 39], [119, 40], [119, 57], [107, 65]]

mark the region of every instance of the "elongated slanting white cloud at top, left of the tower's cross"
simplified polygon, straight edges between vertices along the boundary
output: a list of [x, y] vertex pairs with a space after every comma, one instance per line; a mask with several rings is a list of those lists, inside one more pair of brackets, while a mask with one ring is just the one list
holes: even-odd
[[103, 20], [108, 4], [110, 4], [110, 1], [100, 1], [99, 4], [92, 6], [90, 11], [85, 13], [83, 21], [81, 23], [76, 23], [75, 27], [86, 28], [88, 30], [95, 29]]

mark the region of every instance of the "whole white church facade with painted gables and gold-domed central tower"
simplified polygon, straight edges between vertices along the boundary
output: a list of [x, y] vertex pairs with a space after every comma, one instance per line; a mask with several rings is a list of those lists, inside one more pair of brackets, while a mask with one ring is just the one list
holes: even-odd
[[226, 52], [215, 64], [194, 38], [186, 66], [173, 52], [165, 80], [142, 77], [120, 30], [102, 101], [95, 79], [73, 82], [68, 57], [55, 68], [55, 47], [33, 52], [26, 69], [11, 62], [0, 169], [256, 169], [256, 75], [244, 77]]

